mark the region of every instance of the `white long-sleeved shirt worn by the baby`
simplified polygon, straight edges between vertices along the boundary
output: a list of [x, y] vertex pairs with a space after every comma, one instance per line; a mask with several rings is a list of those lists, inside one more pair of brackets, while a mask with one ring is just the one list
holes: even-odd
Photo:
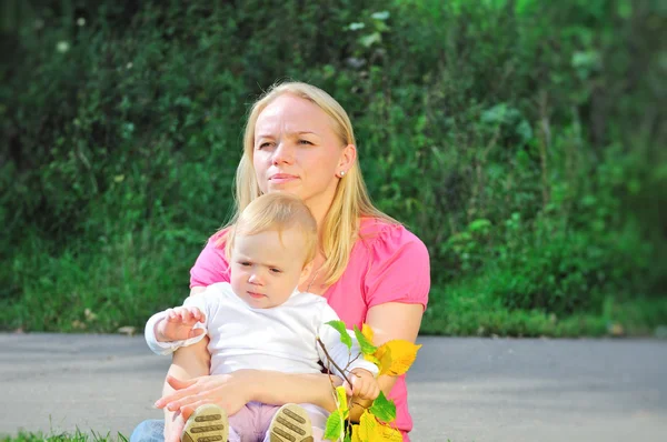
[[[318, 361], [327, 365], [327, 358], [316, 338], [323, 342], [331, 359], [345, 369], [348, 361], [360, 353], [355, 334], [351, 351], [340, 342], [340, 334], [328, 321], [339, 320], [338, 314], [317, 294], [297, 292], [282, 304], [270, 309], [255, 309], [231, 290], [228, 282], [209, 285], [206, 291], [189, 297], [183, 307], [197, 307], [206, 314], [198, 327], [207, 330], [208, 350], [211, 354], [210, 374], [231, 373], [240, 369], [273, 370], [285, 373], [319, 373]], [[152, 315], [146, 324], [146, 342], [158, 354], [170, 354], [179, 346], [191, 345], [203, 334], [185, 341], [158, 342], [156, 323], [165, 312]], [[350, 358], [351, 353], [351, 358]], [[377, 375], [377, 366], [359, 355], [350, 365]], [[341, 373], [331, 364], [331, 371]]]

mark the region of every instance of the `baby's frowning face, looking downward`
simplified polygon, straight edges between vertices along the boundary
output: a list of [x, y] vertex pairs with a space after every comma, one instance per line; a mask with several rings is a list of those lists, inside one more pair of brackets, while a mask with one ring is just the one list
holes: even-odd
[[303, 268], [303, 235], [289, 229], [280, 237], [272, 230], [236, 237], [230, 262], [231, 288], [252, 308], [280, 305], [308, 278], [310, 269]]

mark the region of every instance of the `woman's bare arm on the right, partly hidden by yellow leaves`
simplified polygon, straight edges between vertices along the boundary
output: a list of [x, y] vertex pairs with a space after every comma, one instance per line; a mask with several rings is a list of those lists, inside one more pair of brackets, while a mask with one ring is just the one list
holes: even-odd
[[[394, 339], [402, 339], [415, 342], [421, 325], [424, 307], [421, 304], [406, 304], [400, 302], [387, 302], [374, 305], [366, 313], [366, 323], [374, 330], [374, 345], [381, 345]], [[378, 384], [385, 395], [396, 383], [396, 376], [382, 374], [378, 378]], [[358, 422], [365, 409], [370, 406], [371, 401], [354, 400], [350, 409], [350, 419]]]

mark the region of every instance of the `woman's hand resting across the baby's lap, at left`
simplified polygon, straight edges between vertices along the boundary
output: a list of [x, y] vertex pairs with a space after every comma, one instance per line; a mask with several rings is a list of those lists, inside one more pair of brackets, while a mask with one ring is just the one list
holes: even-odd
[[215, 403], [232, 415], [252, 400], [252, 370], [203, 375], [187, 381], [168, 375], [167, 382], [176, 391], [160, 398], [156, 406], [179, 410], [187, 420], [198, 406]]

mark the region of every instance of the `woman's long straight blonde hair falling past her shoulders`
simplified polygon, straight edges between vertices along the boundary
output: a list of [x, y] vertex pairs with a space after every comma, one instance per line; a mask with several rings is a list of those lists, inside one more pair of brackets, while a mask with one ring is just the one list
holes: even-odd
[[[228, 225], [233, 225], [251, 201], [261, 195], [261, 190], [252, 165], [255, 149], [255, 125], [259, 114], [276, 98], [282, 94], [308, 100], [317, 104], [334, 120], [334, 131], [341, 141], [341, 149], [348, 144], [357, 145], [352, 123], [342, 107], [331, 96], [315, 86], [301, 82], [277, 83], [269, 88], [259, 100], [255, 102], [248, 115], [246, 132], [243, 134], [243, 155], [237, 168], [236, 174], [236, 214]], [[398, 223], [389, 215], [376, 209], [368, 195], [359, 161], [355, 158], [351, 168], [340, 179], [336, 188], [334, 201], [321, 225], [320, 248], [325, 255], [322, 274], [325, 284], [338, 281], [349, 262], [352, 247], [359, 234], [359, 220], [362, 217], [378, 218], [390, 223]], [[223, 238], [221, 238], [223, 240]]]

